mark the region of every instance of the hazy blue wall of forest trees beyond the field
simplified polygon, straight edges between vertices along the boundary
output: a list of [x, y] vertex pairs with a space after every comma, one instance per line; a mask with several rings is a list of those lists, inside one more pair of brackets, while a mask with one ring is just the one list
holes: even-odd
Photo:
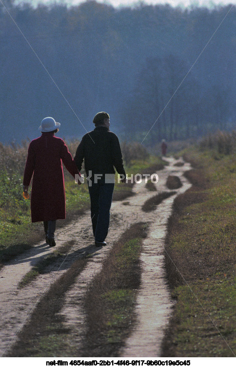
[[234, 126], [235, 7], [202, 52], [229, 7], [4, 4], [32, 48], [1, 5], [1, 141], [35, 137], [45, 116], [81, 137], [98, 111], [123, 139], [153, 126], [147, 144]]

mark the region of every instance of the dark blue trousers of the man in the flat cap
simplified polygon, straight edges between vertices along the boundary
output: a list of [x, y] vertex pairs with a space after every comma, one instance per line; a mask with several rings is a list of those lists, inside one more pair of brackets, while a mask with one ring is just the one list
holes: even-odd
[[89, 186], [93, 235], [97, 241], [104, 241], [108, 235], [113, 190], [114, 183]]

